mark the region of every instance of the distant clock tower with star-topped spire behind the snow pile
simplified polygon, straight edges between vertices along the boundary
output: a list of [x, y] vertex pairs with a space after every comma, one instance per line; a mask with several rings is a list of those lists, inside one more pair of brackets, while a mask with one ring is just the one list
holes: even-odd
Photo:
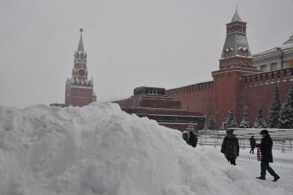
[[97, 101], [94, 94], [93, 81], [88, 79], [87, 53], [83, 47], [83, 29], [79, 29], [80, 38], [77, 51], [74, 52], [74, 65], [72, 77], [67, 79], [65, 85], [65, 104], [73, 106], [84, 106]]

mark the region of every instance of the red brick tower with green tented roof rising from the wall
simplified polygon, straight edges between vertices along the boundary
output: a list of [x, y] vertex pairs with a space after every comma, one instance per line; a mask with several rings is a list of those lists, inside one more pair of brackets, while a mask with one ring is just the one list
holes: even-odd
[[212, 72], [214, 113], [216, 121], [221, 123], [225, 121], [228, 111], [234, 110], [239, 124], [245, 105], [242, 76], [254, 74], [259, 70], [252, 66], [252, 55], [246, 37], [246, 22], [241, 20], [237, 8], [230, 23], [226, 24], [226, 30], [219, 70]]

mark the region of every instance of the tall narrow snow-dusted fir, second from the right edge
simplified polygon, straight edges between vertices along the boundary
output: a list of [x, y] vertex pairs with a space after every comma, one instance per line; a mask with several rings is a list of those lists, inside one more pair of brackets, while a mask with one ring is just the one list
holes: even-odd
[[279, 93], [279, 86], [276, 85], [276, 91], [274, 93], [274, 98], [272, 99], [272, 103], [270, 105], [269, 115], [267, 117], [268, 127], [276, 128], [279, 123], [279, 113], [281, 111], [281, 99]]

